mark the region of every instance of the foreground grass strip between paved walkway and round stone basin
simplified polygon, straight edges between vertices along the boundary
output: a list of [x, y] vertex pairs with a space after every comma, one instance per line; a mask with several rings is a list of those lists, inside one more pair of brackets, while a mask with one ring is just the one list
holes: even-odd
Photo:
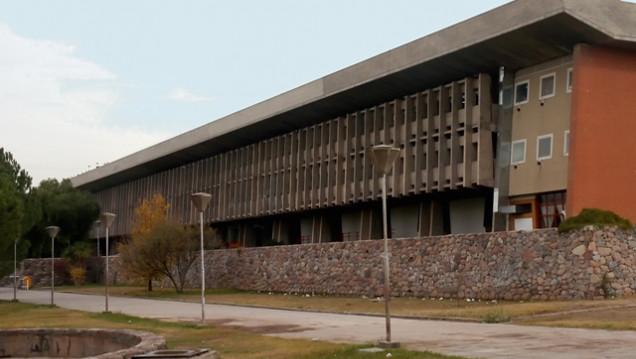
[[[224, 359], [385, 358], [386, 352], [360, 353], [361, 346], [301, 339], [281, 339], [238, 329], [172, 323], [120, 313], [85, 313], [60, 307], [0, 301], [0, 328], [106, 328], [152, 332], [166, 338], [170, 349], [210, 348]], [[429, 352], [391, 350], [406, 359], [450, 359]]]

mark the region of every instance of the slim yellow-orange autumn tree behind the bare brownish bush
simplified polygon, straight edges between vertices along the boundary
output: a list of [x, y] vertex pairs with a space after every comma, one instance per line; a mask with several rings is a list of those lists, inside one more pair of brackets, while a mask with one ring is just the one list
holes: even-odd
[[166, 213], [170, 206], [160, 194], [155, 194], [151, 199], [144, 200], [135, 209], [133, 220], [132, 238], [127, 243], [121, 243], [118, 247], [120, 264], [125, 275], [129, 279], [139, 278], [147, 283], [146, 289], [152, 292], [152, 281], [159, 279], [161, 273], [154, 266], [150, 266], [143, 258], [146, 235], [153, 227], [166, 220]]

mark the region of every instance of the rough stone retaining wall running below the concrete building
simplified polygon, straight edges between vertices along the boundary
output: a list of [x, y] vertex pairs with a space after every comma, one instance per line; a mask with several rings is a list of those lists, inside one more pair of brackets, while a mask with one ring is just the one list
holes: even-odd
[[[391, 239], [389, 247], [393, 295], [557, 300], [636, 289], [634, 232], [616, 228]], [[382, 240], [208, 251], [206, 287], [380, 296], [383, 251]], [[199, 277], [195, 264], [192, 286]]]

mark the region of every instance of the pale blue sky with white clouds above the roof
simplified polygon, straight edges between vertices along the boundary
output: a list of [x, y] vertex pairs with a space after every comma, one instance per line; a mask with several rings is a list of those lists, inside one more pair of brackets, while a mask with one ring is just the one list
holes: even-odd
[[0, 0], [0, 147], [71, 178], [508, 0]]

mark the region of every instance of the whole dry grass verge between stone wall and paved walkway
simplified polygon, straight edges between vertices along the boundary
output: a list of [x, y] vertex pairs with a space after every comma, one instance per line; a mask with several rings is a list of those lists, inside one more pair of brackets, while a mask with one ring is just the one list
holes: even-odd
[[[67, 287], [61, 290], [102, 293], [100, 287]], [[197, 290], [177, 294], [173, 289], [160, 288], [152, 293], [141, 287], [111, 287], [113, 295], [154, 297], [164, 299], [200, 300]], [[307, 311], [383, 314], [384, 303], [376, 298], [322, 296], [306, 294], [252, 293], [209, 291], [208, 303], [251, 305], [269, 308], [289, 308]], [[625, 313], [633, 315], [623, 315]], [[636, 297], [555, 302], [456, 301], [393, 298], [394, 316], [419, 318], [459, 318], [489, 321], [490, 318], [510, 319], [516, 324], [570, 326], [586, 328], [636, 329]], [[567, 314], [559, 314], [567, 313]]]

